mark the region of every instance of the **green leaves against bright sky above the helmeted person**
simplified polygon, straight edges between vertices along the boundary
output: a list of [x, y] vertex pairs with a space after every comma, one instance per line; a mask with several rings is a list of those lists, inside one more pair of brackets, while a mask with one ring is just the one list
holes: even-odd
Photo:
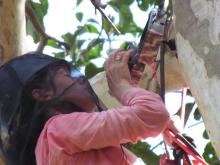
[[[81, 5], [82, 2], [83, 0], [77, 0], [76, 6]], [[108, 6], [118, 13], [119, 22], [116, 26], [122, 35], [130, 33], [133, 36], [140, 36], [142, 32], [142, 29], [136, 25], [133, 19], [133, 13], [130, 10], [130, 6], [135, 2], [138, 2], [138, 7], [145, 11], [150, 4], [154, 4], [152, 0], [110, 0], [108, 2]], [[39, 0], [39, 2], [31, 1], [30, 3], [41, 27], [45, 29], [43, 19], [47, 14], [48, 0]], [[79, 22], [76, 30], [73, 33], [66, 33], [61, 36], [62, 40], [70, 45], [70, 50], [65, 50], [62, 45], [59, 45], [59, 43], [52, 39], [48, 40], [47, 46], [59, 50], [53, 53], [56, 57], [65, 58], [69, 56], [76, 67], [85, 67], [86, 76], [91, 77], [103, 70], [103, 67], [97, 67], [92, 61], [103, 56], [104, 44], [108, 43], [110, 45], [109, 50], [112, 49], [111, 44], [116, 40], [116, 34], [104, 18], [101, 21], [97, 21], [95, 18], [89, 18], [83, 21], [85, 19], [83, 12], [75, 13], [75, 17]], [[114, 16], [109, 16], [109, 18], [114, 22]], [[146, 22], [147, 20], [143, 21]], [[27, 33], [33, 37], [35, 43], [40, 41], [40, 35], [33, 28], [30, 21], [27, 21]]]

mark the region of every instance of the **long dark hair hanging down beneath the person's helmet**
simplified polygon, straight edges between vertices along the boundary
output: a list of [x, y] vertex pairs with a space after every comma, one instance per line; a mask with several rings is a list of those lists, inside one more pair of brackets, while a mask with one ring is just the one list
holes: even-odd
[[[19, 128], [17, 128], [17, 135], [14, 138], [18, 139], [17, 146], [21, 148], [19, 155], [19, 164], [35, 165], [35, 146], [37, 139], [42, 131], [46, 118], [46, 103], [39, 102], [32, 97], [33, 89], [54, 89], [54, 84], [50, 70], [53, 67], [49, 66], [39, 73], [34, 75], [32, 79], [24, 86], [23, 94], [20, 104], [20, 121]], [[15, 139], [15, 141], [16, 141]]]

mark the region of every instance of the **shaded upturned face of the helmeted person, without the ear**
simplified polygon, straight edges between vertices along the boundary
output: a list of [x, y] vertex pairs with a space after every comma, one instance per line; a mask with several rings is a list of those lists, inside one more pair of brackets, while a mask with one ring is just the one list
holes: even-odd
[[82, 77], [71, 77], [67, 68], [62, 67], [54, 73], [55, 96], [61, 95], [65, 101], [69, 101], [86, 112], [96, 110], [94, 98], [89, 90], [88, 81]]

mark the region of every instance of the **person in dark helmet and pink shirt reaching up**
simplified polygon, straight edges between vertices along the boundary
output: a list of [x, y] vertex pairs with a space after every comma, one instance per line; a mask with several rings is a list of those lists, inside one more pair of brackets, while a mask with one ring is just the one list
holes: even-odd
[[65, 60], [31, 52], [0, 68], [0, 148], [8, 165], [132, 165], [122, 144], [155, 137], [170, 116], [155, 93], [135, 87], [132, 51], [110, 54], [110, 94], [104, 109], [89, 81]]

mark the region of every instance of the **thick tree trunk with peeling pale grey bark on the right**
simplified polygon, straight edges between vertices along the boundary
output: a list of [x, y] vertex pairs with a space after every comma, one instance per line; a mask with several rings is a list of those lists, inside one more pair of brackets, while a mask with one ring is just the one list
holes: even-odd
[[220, 157], [220, 1], [174, 0], [173, 7], [178, 57]]

